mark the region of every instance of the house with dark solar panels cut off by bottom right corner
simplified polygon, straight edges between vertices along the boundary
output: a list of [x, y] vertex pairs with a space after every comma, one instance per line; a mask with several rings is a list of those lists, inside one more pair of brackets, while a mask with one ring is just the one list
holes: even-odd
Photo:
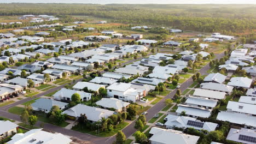
[[256, 131], [251, 129], [235, 129], [231, 128], [229, 130], [228, 136], [226, 136], [227, 140], [235, 141], [239, 143], [247, 143], [253, 144], [256, 143]]

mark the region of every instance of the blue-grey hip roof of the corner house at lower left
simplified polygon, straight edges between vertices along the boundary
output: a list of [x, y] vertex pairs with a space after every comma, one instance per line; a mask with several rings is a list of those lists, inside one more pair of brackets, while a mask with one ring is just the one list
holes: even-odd
[[68, 105], [68, 103], [63, 103], [61, 101], [52, 100], [52, 99], [40, 98], [31, 104], [32, 107], [36, 107], [36, 108], [44, 109], [44, 110], [48, 110], [48, 111], [50, 111], [54, 105], [63, 107], [63, 106]]

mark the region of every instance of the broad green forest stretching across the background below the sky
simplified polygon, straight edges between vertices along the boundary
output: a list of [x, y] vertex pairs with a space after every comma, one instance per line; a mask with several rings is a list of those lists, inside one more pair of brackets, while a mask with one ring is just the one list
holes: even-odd
[[133, 25], [200, 32], [253, 32], [256, 5], [219, 4], [0, 4], [0, 15], [85, 15]]

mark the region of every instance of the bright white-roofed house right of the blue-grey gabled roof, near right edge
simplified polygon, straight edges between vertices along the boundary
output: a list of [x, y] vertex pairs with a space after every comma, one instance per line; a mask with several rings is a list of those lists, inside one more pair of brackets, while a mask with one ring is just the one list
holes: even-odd
[[233, 87], [243, 87], [243, 88], [250, 88], [252, 84], [252, 79], [248, 77], [232, 77], [230, 82], [228, 83], [229, 86]]

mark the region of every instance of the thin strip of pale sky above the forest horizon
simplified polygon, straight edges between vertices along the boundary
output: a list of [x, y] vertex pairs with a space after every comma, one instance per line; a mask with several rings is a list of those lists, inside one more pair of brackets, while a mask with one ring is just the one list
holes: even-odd
[[256, 0], [0, 0], [0, 3], [256, 4]]

